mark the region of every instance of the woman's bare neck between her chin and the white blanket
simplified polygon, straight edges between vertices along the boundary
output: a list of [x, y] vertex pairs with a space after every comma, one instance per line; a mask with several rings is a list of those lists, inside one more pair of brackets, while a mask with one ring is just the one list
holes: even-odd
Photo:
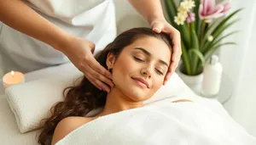
[[126, 97], [122, 92], [119, 92], [117, 88], [113, 87], [111, 92], [108, 93], [104, 109], [97, 116], [113, 114], [126, 109], [135, 109], [140, 107], [143, 107], [143, 102], [135, 102]]

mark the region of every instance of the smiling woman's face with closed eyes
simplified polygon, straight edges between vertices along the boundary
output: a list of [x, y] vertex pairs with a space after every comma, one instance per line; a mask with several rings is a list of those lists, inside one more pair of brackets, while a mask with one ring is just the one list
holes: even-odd
[[151, 98], [163, 84], [171, 50], [153, 36], [143, 36], [125, 47], [113, 63], [115, 87], [132, 101]]

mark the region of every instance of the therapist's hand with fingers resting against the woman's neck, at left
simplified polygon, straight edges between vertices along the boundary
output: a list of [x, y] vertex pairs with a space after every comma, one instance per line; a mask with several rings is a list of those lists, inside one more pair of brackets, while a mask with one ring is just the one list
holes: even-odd
[[68, 59], [84, 73], [94, 86], [110, 92], [109, 86], [113, 86], [111, 73], [94, 58], [95, 44], [84, 38], [72, 37], [66, 45], [65, 49], [62, 49], [62, 53], [67, 55]]

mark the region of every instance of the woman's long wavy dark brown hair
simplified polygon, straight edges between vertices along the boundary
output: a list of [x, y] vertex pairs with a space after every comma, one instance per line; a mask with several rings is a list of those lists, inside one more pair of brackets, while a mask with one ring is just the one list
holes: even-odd
[[[172, 48], [170, 36], [164, 33], [155, 33], [149, 28], [133, 28], [121, 33], [100, 53], [97, 53], [96, 60], [107, 69], [108, 53], [113, 53], [118, 58], [124, 47], [143, 36], [159, 38], [166, 42], [170, 49]], [[56, 125], [64, 118], [68, 116], [85, 116], [92, 109], [102, 108], [106, 103], [107, 92], [99, 90], [85, 76], [82, 76], [79, 85], [69, 86], [64, 89], [63, 97], [64, 101], [55, 103], [50, 109], [51, 116], [41, 121], [43, 125], [41, 125], [41, 131], [39, 132], [38, 143], [43, 145], [50, 144]]]

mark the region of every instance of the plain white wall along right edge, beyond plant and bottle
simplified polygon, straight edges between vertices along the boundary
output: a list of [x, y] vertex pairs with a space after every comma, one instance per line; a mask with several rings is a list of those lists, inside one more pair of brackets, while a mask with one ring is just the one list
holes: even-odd
[[256, 1], [233, 0], [232, 5], [231, 11], [244, 9], [237, 15], [241, 21], [230, 29], [241, 31], [229, 39], [238, 45], [223, 47], [220, 52], [224, 72], [230, 75], [234, 86], [232, 98], [225, 108], [256, 137]]

